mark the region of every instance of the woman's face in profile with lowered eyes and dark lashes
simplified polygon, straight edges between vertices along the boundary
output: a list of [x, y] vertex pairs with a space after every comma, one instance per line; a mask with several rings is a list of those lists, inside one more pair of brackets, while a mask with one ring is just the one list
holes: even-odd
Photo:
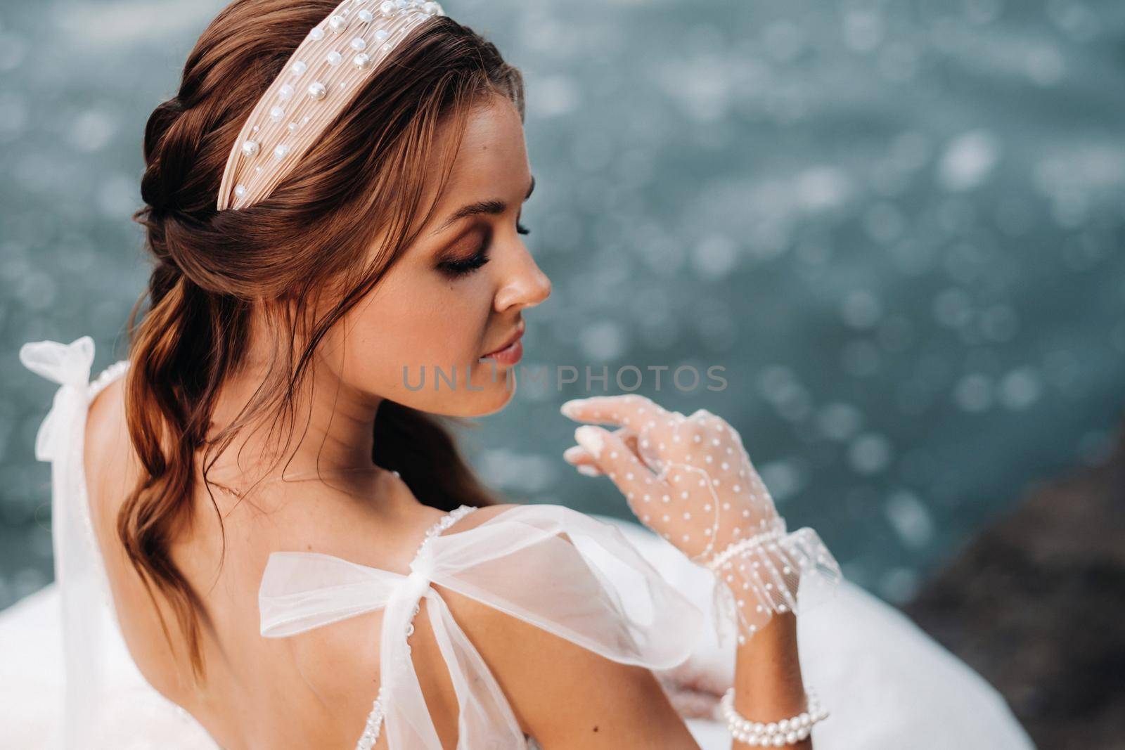
[[[456, 145], [446, 137], [442, 148]], [[428, 177], [425, 206], [438, 177], [436, 168]], [[508, 403], [522, 343], [508, 344], [523, 333], [523, 310], [551, 291], [522, 240], [532, 187], [520, 115], [493, 96], [470, 115], [417, 240], [323, 342], [322, 361], [343, 387], [449, 416]]]

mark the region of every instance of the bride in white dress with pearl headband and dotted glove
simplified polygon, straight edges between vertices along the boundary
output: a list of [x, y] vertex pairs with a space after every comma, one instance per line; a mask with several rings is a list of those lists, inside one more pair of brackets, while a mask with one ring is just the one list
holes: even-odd
[[61, 385], [57, 584], [0, 621], [4, 747], [1030, 747], [720, 417], [564, 405], [640, 525], [477, 481], [447, 423], [508, 403], [551, 290], [522, 123], [434, 2], [215, 18], [145, 129], [128, 359], [20, 352]]

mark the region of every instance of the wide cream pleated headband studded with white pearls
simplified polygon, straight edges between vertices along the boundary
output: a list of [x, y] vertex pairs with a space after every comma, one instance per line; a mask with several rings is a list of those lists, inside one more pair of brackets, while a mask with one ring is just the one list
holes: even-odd
[[343, 0], [313, 27], [235, 138], [218, 210], [245, 208], [281, 182], [415, 26], [443, 16], [422, 0]]

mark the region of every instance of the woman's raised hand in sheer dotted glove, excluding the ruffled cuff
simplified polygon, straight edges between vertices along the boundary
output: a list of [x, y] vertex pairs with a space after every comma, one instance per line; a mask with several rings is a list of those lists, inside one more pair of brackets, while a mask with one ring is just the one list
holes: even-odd
[[[587, 475], [604, 473], [624, 494], [642, 524], [693, 561], [775, 528], [773, 498], [741, 437], [706, 409], [668, 412], [638, 395], [567, 401], [564, 415], [592, 425], [575, 430], [568, 461]], [[582, 470], [582, 469], [580, 469]]]

